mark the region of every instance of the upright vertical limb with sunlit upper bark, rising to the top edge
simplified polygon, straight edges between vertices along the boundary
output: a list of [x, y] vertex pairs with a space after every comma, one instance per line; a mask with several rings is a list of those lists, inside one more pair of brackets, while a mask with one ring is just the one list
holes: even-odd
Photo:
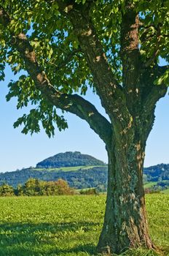
[[138, 113], [141, 105], [141, 56], [138, 48], [139, 17], [133, 1], [125, 1], [125, 11], [122, 10], [120, 31], [122, 83], [125, 89], [127, 108], [132, 116]]

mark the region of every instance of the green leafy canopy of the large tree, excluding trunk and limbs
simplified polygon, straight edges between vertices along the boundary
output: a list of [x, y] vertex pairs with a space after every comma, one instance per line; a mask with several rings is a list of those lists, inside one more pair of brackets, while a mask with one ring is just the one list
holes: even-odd
[[[66, 17], [67, 9], [61, 12], [58, 2], [50, 0], [6, 0], [1, 7], [9, 15], [7, 27], [0, 24], [0, 79], [4, 80], [6, 64], [14, 74], [24, 71], [18, 80], [9, 83], [7, 100], [17, 97], [17, 108], [31, 103], [32, 110], [15, 122], [14, 127], [24, 124], [23, 133], [39, 132], [42, 121], [47, 135], [54, 135], [55, 123], [66, 129], [67, 123], [58, 109], [47, 102], [36, 89], [34, 80], [28, 74], [25, 62], [15, 48], [16, 35], [26, 34], [36, 53], [36, 60], [42, 72], [47, 74], [52, 86], [64, 94], [84, 95], [87, 89], [95, 91], [93, 74], [87, 65], [86, 56], [74, 33], [71, 21]], [[76, 0], [77, 7], [91, 2], [90, 19], [103, 45], [104, 53], [114, 78], [122, 85], [122, 58], [120, 55], [120, 26], [122, 12], [126, 12], [125, 1]], [[160, 57], [169, 61], [168, 50], [168, 1], [134, 0], [135, 10], [140, 16], [139, 40], [141, 58], [144, 61], [159, 62]], [[78, 10], [78, 8], [77, 8]], [[11, 35], [13, 35], [11, 37]], [[154, 63], [154, 62], [153, 62]], [[151, 63], [150, 63], [151, 64]], [[154, 81], [157, 85], [168, 83], [168, 71]]]

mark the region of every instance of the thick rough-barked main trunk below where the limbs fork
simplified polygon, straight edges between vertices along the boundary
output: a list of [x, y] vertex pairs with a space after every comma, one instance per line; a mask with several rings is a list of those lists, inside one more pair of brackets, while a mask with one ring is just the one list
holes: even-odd
[[114, 137], [109, 155], [108, 190], [98, 252], [122, 253], [127, 248], [154, 245], [149, 238], [143, 186], [145, 140], [125, 145]]

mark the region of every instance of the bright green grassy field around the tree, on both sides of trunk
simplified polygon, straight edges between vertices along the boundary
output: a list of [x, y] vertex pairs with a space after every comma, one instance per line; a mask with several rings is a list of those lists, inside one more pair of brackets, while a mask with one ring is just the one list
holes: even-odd
[[[1, 256], [91, 256], [106, 196], [0, 197]], [[146, 195], [152, 239], [169, 255], [169, 195]], [[125, 255], [150, 256], [137, 249]]]

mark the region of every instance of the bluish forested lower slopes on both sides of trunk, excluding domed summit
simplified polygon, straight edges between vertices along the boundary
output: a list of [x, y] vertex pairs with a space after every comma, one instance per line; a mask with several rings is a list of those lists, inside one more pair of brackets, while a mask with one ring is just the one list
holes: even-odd
[[[71, 169], [71, 167], [69, 168]], [[42, 181], [57, 181], [59, 178], [67, 181], [70, 187], [75, 189], [85, 189], [96, 187], [98, 190], [106, 190], [107, 186], [107, 166], [98, 167], [77, 167], [77, 170], [60, 170], [58, 169], [39, 169], [26, 168], [16, 170], [14, 172], [0, 173], [0, 185], [9, 184], [17, 187], [17, 184], [25, 184], [28, 178], [38, 178]], [[169, 165], [155, 165], [153, 167], [144, 168], [144, 183], [157, 181], [163, 183], [169, 180]]]

